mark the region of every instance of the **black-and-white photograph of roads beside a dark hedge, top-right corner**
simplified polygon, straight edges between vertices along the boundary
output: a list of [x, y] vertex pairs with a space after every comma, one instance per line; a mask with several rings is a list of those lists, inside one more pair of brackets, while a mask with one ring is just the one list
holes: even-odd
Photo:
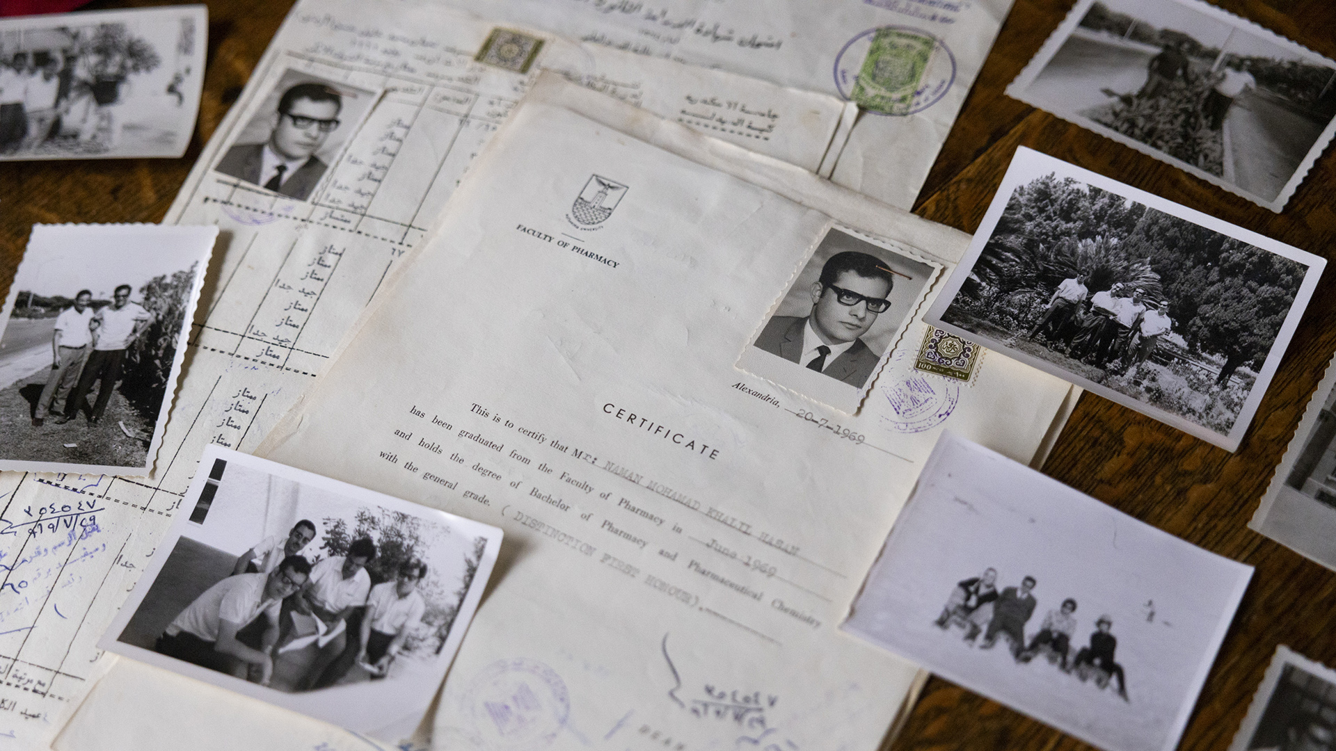
[[1336, 63], [1200, 0], [1082, 0], [1007, 94], [1277, 212], [1336, 132]]

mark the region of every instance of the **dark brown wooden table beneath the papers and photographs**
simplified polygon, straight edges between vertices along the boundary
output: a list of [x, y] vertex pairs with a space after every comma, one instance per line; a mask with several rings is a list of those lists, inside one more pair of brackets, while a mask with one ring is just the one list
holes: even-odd
[[[283, 20], [287, 0], [206, 0], [208, 69], [199, 127], [182, 159], [0, 164], [0, 283], [8, 287], [37, 222], [158, 222], [204, 140]], [[155, 5], [102, 0], [88, 5]], [[1332, 0], [1226, 0], [1225, 9], [1336, 59]], [[1284, 214], [1228, 194], [1128, 147], [1006, 98], [1006, 84], [1066, 15], [1062, 0], [1015, 0], [915, 211], [974, 231], [1018, 144], [1110, 175], [1304, 250], [1333, 257], [1336, 156], [1319, 159]], [[1336, 573], [1246, 528], [1309, 393], [1336, 350], [1336, 274], [1313, 295], [1257, 418], [1229, 454], [1104, 398], [1086, 394], [1045, 472], [1189, 543], [1257, 567], [1201, 692], [1182, 750], [1224, 748], [1276, 644], [1336, 665], [1327, 633]], [[945, 680], [929, 682], [895, 751], [1086, 748], [1055, 730]]]

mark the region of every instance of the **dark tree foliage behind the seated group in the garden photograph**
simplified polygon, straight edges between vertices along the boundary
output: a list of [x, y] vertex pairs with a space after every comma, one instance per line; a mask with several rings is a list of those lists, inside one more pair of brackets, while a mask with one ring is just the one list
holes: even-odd
[[[1093, 295], [1114, 283], [1169, 301], [1173, 330], [1192, 354], [1224, 358], [1217, 384], [1253, 369], [1271, 350], [1307, 267], [1242, 241], [1071, 178], [1019, 186], [961, 298], [989, 319], [1009, 297], [1047, 298], [1085, 275]], [[1019, 322], [1033, 326], [1043, 306]]]

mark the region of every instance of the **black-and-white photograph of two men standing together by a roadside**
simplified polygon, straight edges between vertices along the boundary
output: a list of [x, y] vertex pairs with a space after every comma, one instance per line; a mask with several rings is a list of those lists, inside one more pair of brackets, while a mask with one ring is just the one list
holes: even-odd
[[32, 227], [0, 318], [0, 469], [152, 469], [216, 237]]

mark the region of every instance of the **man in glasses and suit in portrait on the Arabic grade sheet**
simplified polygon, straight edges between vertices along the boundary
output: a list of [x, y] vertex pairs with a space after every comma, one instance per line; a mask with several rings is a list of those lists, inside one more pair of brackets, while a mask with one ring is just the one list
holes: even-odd
[[339, 92], [319, 83], [299, 83], [278, 100], [277, 120], [265, 143], [238, 144], [218, 166], [224, 175], [279, 195], [306, 200], [329, 164], [315, 152], [339, 126]]

